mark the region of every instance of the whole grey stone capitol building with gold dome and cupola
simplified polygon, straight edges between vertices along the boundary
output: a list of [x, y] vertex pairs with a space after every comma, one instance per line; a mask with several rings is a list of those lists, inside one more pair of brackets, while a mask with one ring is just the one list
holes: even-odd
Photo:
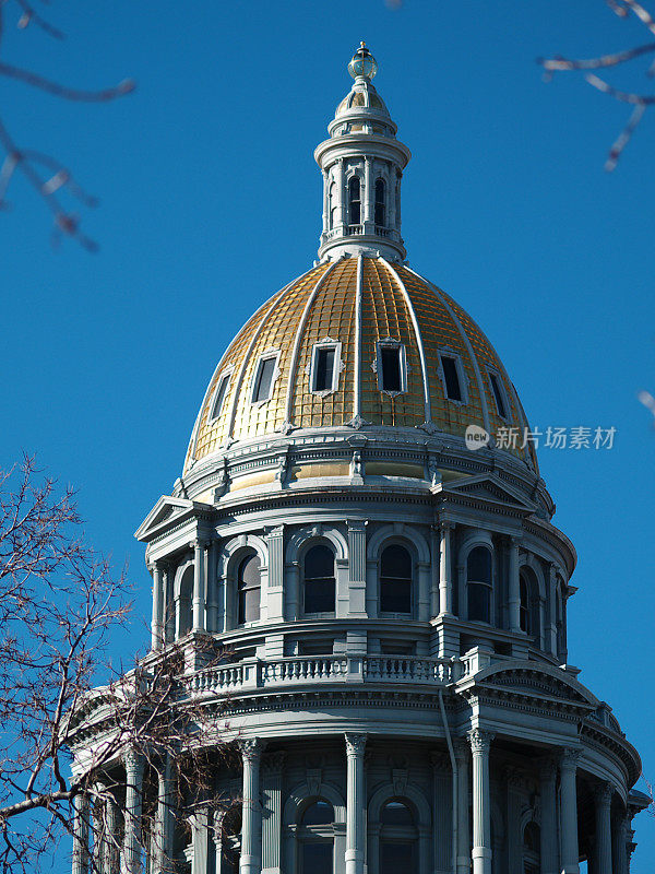
[[176, 810], [178, 763], [117, 757], [163, 839], [117, 810], [104, 874], [629, 872], [641, 763], [568, 661], [575, 551], [532, 442], [495, 439], [529, 425], [493, 346], [406, 260], [377, 69], [361, 44], [314, 152], [318, 260], [262, 290], [138, 531], [148, 659], [183, 652], [217, 731]]

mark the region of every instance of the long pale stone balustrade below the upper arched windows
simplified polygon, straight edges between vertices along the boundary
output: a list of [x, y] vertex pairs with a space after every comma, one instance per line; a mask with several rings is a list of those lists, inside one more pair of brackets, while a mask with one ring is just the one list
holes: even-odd
[[192, 694], [225, 694], [248, 689], [291, 689], [306, 685], [390, 683], [443, 686], [457, 680], [462, 664], [451, 659], [409, 656], [293, 656], [209, 668], [186, 683]]

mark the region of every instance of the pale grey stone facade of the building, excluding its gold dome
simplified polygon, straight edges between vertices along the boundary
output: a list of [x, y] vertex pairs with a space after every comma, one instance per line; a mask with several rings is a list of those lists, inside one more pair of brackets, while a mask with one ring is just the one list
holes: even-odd
[[[340, 107], [331, 127], [367, 108]], [[371, 192], [386, 162], [395, 197], [408, 157], [371, 113], [385, 133], [318, 150], [324, 257], [376, 237], [366, 197], [364, 233], [348, 231], [348, 174]], [[392, 206], [383, 245], [400, 258]], [[272, 433], [191, 465], [138, 532], [150, 658], [179, 648], [189, 698], [229, 700], [216, 730], [235, 755], [216, 755], [209, 798], [179, 798], [164, 763], [158, 839], [141, 843], [144, 763], [117, 760], [123, 851], [104, 873], [576, 874], [586, 859], [628, 874], [640, 759], [568, 664], [575, 554], [552, 512], [531, 464], [438, 428]], [[207, 640], [229, 658], [206, 668]], [[75, 755], [82, 768], [83, 743]]]

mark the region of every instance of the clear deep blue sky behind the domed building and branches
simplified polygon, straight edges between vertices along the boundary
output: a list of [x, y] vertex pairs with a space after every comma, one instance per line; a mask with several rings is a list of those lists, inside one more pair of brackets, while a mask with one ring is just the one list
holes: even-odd
[[[4, 59], [79, 86], [134, 76], [111, 105], [64, 104], [3, 83], [23, 145], [68, 163], [102, 198], [91, 256], [49, 246], [24, 185], [2, 233], [0, 458], [23, 449], [81, 489], [95, 543], [130, 560], [132, 532], [179, 475], [216, 362], [254, 308], [315, 257], [312, 158], [349, 87], [360, 39], [398, 137], [409, 262], [483, 326], [531, 421], [615, 426], [611, 451], [540, 451], [573, 540], [570, 658], [607, 699], [655, 779], [653, 458], [636, 401], [655, 389], [653, 133], [647, 115], [617, 172], [627, 110], [581, 80], [541, 81], [541, 55], [647, 40], [600, 0], [55, 3], [64, 44], [11, 32]], [[623, 84], [645, 81], [639, 63]], [[133, 641], [145, 631], [134, 624]], [[121, 641], [124, 650], [124, 641]], [[633, 874], [655, 824], [638, 823]]]

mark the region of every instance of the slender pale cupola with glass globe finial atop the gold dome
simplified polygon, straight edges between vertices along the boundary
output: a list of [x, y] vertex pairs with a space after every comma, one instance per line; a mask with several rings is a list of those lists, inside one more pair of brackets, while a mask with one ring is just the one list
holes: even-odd
[[319, 257], [382, 255], [405, 258], [401, 237], [401, 179], [412, 153], [372, 80], [378, 63], [364, 43], [348, 72], [355, 80], [327, 126], [314, 157], [323, 172], [323, 233]]

